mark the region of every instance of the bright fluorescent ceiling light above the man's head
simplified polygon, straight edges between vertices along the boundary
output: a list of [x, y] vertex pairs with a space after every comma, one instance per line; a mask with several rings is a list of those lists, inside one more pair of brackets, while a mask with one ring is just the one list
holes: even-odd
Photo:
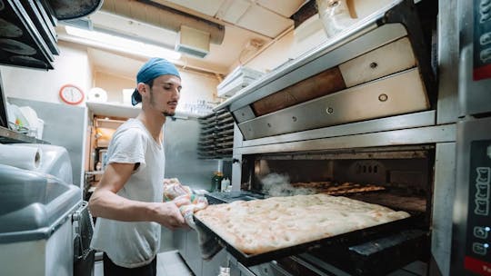
[[105, 34], [97, 31], [88, 31], [72, 26], [65, 26], [66, 34], [84, 38], [84, 41], [73, 39], [74, 42], [88, 44], [127, 54], [138, 54], [146, 57], [163, 57], [169, 61], [177, 61], [181, 54], [164, 47], [153, 44], [145, 44], [133, 39], [128, 39], [113, 34]]

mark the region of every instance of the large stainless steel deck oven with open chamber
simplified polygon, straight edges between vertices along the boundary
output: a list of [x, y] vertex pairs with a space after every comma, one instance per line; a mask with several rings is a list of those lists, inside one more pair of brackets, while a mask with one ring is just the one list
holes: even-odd
[[414, 2], [378, 2], [216, 107], [235, 119], [235, 198], [327, 192], [411, 220], [263, 259], [228, 248], [242, 275], [456, 274], [456, 1]]

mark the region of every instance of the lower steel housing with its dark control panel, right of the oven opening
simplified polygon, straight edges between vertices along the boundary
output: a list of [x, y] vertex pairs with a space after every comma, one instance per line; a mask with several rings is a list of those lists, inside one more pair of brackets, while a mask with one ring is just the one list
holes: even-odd
[[491, 117], [457, 123], [452, 275], [491, 275]]

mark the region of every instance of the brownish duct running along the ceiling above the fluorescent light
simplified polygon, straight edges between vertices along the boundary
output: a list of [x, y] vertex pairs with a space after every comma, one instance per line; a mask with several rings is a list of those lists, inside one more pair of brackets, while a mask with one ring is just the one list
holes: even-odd
[[210, 34], [210, 42], [222, 44], [225, 26], [188, 15], [171, 7], [148, 0], [105, 0], [101, 11], [124, 16], [149, 25], [155, 25], [178, 33], [181, 25], [186, 25]]

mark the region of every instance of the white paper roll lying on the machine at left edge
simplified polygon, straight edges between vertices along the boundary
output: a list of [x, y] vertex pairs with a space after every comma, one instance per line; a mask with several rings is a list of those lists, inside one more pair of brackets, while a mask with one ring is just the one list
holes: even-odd
[[0, 163], [34, 171], [41, 163], [41, 150], [38, 147], [0, 144]]

